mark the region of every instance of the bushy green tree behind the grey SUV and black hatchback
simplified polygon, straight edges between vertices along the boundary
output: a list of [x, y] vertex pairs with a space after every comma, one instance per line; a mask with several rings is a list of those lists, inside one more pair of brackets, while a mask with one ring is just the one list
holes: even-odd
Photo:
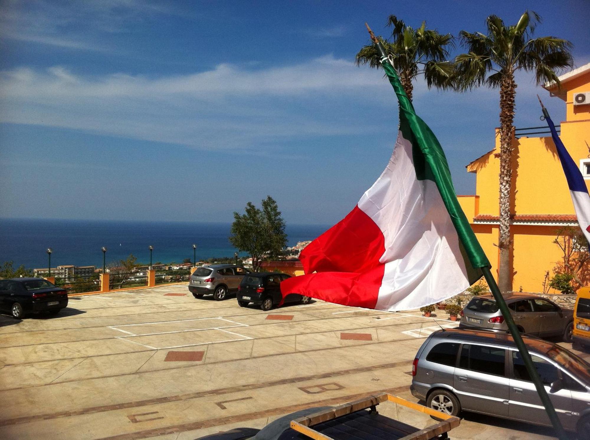
[[287, 245], [285, 222], [278, 211], [277, 202], [267, 196], [258, 209], [248, 202], [245, 214], [234, 212], [230, 242], [239, 251], [252, 257], [252, 268], [260, 269], [264, 258], [276, 258]]

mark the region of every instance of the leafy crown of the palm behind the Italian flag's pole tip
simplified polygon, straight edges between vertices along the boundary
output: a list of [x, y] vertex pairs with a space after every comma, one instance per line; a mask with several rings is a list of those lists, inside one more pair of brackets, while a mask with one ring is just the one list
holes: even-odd
[[[422, 22], [418, 29], [411, 28], [395, 15], [389, 15], [388, 27], [392, 27], [391, 40], [383, 40], [385, 51], [391, 55], [392, 65], [399, 75], [408, 98], [412, 100], [412, 80], [423, 74], [428, 88], [450, 87], [453, 75], [453, 63], [447, 61], [448, 50], [453, 47], [453, 35], [441, 35], [437, 31], [426, 29]], [[381, 55], [375, 44], [363, 47], [356, 54], [356, 65], [369, 64], [380, 68]]]

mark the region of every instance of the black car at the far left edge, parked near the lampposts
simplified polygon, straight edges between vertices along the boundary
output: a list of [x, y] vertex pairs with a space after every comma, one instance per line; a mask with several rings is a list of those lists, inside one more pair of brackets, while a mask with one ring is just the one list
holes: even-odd
[[0, 280], [0, 309], [15, 318], [40, 311], [59, 313], [67, 305], [67, 291], [42, 278]]

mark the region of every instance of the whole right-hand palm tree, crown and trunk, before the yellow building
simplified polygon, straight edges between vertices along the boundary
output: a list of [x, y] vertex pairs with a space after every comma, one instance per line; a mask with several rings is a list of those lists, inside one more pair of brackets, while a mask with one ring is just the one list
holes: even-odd
[[[531, 18], [532, 15], [532, 18]], [[466, 54], [455, 58], [460, 87], [485, 85], [500, 88], [500, 249], [499, 287], [512, 291], [510, 268], [510, 191], [512, 187], [512, 136], [514, 97], [518, 70], [535, 72], [537, 85], [547, 81], [559, 84], [557, 73], [573, 67], [569, 50], [572, 43], [562, 38], [533, 38], [541, 18], [526, 11], [515, 25], [506, 26], [496, 15], [486, 19], [487, 35], [461, 31], [460, 43]]]

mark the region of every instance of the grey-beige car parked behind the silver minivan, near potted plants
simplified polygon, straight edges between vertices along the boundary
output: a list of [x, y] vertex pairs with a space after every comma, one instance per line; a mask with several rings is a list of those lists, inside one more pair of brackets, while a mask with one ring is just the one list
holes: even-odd
[[[537, 295], [513, 293], [504, 297], [514, 323], [523, 333], [540, 337], [561, 336], [572, 342], [573, 310], [562, 308]], [[491, 295], [473, 297], [461, 311], [460, 329], [508, 331], [496, 300]]]

